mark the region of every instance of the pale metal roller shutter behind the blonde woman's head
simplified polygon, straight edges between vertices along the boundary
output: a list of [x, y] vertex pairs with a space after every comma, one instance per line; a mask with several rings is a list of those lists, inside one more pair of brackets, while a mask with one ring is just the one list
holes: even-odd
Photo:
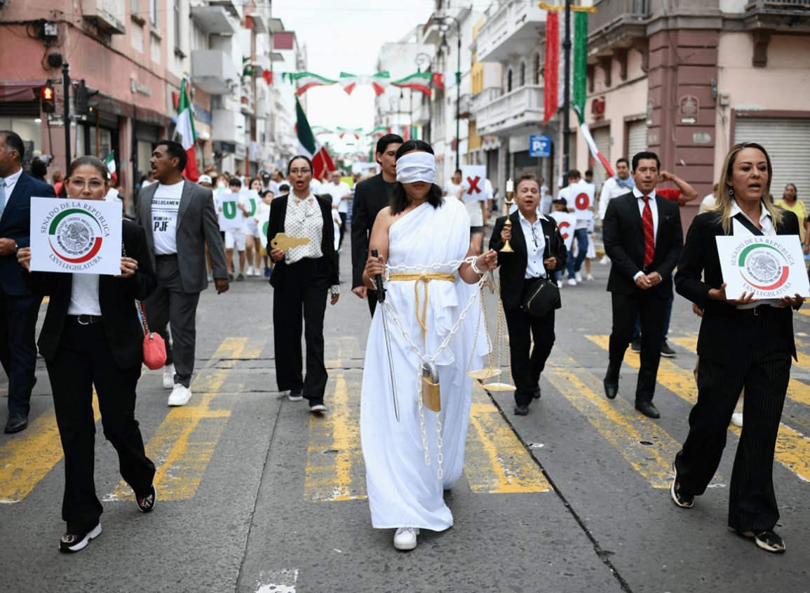
[[756, 142], [765, 147], [774, 167], [770, 191], [774, 199], [792, 183], [799, 199], [810, 198], [810, 119], [737, 117], [734, 142]]

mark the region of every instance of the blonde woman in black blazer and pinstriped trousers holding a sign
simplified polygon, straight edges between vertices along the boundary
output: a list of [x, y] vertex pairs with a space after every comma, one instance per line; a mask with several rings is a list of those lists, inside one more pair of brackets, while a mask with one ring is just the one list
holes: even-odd
[[756, 143], [731, 148], [721, 172], [717, 207], [697, 215], [686, 236], [675, 276], [676, 290], [703, 310], [697, 338], [700, 368], [697, 403], [689, 415], [689, 436], [676, 455], [670, 493], [677, 506], [692, 508], [717, 470], [727, 428], [745, 387], [745, 425], [731, 472], [728, 525], [768, 552], [783, 552], [774, 532], [779, 510], [774, 493], [774, 446], [795, 358], [795, 294], [758, 301], [731, 295], [720, 268], [715, 237], [799, 235], [799, 221], [774, 206], [772, 169]]

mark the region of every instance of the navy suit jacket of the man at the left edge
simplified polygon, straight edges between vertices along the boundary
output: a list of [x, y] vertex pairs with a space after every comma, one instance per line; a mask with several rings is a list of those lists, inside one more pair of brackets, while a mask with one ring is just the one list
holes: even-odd
[[[6, 194], [6, 208], [0, 217], [0, 237], [14, 239], [19, 247], [31, 245], [31, 198], [56, 198], [53, 187], [21, 173], [11, 195]], [[0, 256], [0, 287], [11, 297], [31, 294], [23, 284], [22, 268], [17, 263], [17, 254]]]

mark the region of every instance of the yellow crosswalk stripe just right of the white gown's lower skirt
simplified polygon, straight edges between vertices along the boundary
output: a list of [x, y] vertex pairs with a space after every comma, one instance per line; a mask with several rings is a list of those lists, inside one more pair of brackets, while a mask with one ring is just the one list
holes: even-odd
[[552, 489], [478, 382], [473, 382], [464, 475], [475, 493], [536, 493]]

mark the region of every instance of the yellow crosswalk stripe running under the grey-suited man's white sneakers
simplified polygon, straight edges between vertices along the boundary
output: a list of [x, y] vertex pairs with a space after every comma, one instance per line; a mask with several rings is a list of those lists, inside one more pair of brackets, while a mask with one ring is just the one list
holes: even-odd
[[[160, 500], [194, 497], [231, 412], [212, 409], [237, 360], [258, 358], [264, 340], [225, 338], [191, 383], [190, 403], [173, 407], [147, 443], [147, 456], [156, 466], [155, 485]], [[220, 365], [220, 369], [213, 369]], [[104, 500], [131, 500], [132, 489], [122, 481]]]

